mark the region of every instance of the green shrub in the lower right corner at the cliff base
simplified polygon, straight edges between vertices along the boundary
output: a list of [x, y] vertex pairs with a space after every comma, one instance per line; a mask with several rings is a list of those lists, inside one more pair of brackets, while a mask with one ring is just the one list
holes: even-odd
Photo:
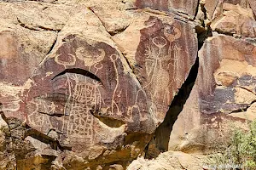
[[249, 130], [232, 130], [230, 144], [223, 153], [209, 156], [206, 169], [256, 170], [256, 120], [250, 122]]

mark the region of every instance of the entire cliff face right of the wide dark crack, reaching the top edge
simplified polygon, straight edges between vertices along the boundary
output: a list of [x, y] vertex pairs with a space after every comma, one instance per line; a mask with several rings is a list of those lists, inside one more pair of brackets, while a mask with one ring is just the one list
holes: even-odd
[[222, 149], [232, 127], [255, 119], [253, 1], [206, 1], [208, 37], [199, 51], [195, 86], [172, 127], [169, 150]]

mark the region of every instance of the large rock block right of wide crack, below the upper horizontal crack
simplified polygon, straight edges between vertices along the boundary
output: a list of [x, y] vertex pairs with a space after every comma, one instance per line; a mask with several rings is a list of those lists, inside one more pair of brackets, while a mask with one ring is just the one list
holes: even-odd
[[253, 114], [255, 45], [218, 35], [200, 51], [195, 87], [177, 118], [170, 150], [211, 152], [227, 142], [232, 127], [247, 128]]

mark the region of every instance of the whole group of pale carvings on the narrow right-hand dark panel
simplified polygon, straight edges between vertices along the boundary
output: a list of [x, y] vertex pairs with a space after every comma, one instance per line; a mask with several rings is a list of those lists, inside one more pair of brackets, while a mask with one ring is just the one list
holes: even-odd
[[[137, 91], [137, 99], [139, 94], [146, 92], [145, 96], [151, 99], [148, 101], [148, 108], [150, 113], [154, 113], [155, 120], [162, 120], [162, 111], [166, 111], [166, 105], [170, 105], [172, 101], [172, 89], [180, 88], [182, 84], [181, 78], [181, 48], [178, 44], [182, 34], [181, 31], [173, 25], [163, 25], [164, 29], [159, 32], [158, 36], [150, 37], [148, 30], [142, 31], [143, 39], [141, 42], [145, 58], [137, 58], [140, 65], [144, 65], [143, 88]], [[148, 37], [149, 35], [149, 37]], [[174, 43], [175, 42], [175, 43]], [[181, 74], [181, 75], [180, 75]], [[135, 105], [131, 110], [140, 109]], [[129, 112], [128, 111], [128, 112]]]

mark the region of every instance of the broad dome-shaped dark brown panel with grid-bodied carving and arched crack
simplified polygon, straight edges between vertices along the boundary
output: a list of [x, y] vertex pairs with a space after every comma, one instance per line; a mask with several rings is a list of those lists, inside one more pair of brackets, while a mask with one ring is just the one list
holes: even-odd
[[127, 132], [154, 132], [144, 89], [125, 73], [116, 49], [75, 35], [65, 41], [32, 77], [28, 125], [45, 134], [55, 130], [63, 143], [82, 140], [87, 146], [100, 139], [97, 117], [125, 122]]

